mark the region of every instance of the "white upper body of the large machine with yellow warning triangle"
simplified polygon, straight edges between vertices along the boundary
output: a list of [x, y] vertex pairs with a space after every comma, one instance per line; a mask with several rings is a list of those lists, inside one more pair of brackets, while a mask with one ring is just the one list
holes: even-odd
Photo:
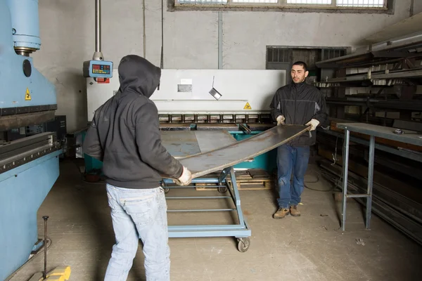
[[[119, 75], [113, 72], [106, 83], [87, 79], [88, 122], [119, 89]], [[285, 70], [164, 69], [151, 100], [158, 107], [162, 129], [241, 126], [243, 131], [251, 125], [272, 124], [269, 105], [285, 84]]]

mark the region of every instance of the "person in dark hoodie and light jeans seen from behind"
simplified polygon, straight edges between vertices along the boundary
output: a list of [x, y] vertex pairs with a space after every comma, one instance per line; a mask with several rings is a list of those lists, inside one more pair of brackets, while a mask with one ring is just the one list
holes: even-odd
[[146, 280], [167, 281], [170, 248], [160, 174], [178, 185], [188, 185], [192, 176], [161, 143], [158, 110], [149, 99], [160, 84], [160, 68], [127, 55], [118, 72], [120, 89], [96, 110], [84, 141], [84, 152], [103, 162], [107, 178], [116, 243], [105, 280], [127, 280], [141, 239]]

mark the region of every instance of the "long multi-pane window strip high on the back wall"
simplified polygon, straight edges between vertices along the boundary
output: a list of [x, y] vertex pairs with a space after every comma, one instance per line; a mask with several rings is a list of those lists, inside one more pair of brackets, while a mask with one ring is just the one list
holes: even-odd
[[174, 6], [208, 6], [223, 8], [279, 8], [279, 9], [327, 9], [327, 10], [378, 10], [392, 11], [395, 0], [174, 0]]

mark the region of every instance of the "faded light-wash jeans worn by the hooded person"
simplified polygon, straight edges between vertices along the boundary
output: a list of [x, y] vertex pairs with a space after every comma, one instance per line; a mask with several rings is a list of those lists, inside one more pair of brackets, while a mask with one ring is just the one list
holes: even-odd
[[107, 195], [116, 244], [113, 246], [104, 280], [127, 280], [141, 239], [146, 280], [169, 281], [170, 247], [164, 190], [127, 189], [107, 185]]

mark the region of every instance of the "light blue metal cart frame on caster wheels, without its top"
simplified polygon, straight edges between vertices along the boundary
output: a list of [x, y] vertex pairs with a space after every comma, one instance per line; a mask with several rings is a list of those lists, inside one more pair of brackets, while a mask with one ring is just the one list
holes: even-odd
[[[230, 176], [231, 182], [229, 183], [226, 178]], [[241, 197], [236, 183], [236, 176], [234, 174], [233, 166], [224, 169], [219, 177], [210, 178], [194, 178], [193, 185], [177, 186], [171, 185], [173, 183], [170, 179], [163, 179], [162, 187], [165, 192], [169, 192], [170, 188], [196, 188], [195, 183], [216, 183], [217, 185], [210, 186], [211, 188], [218, 188], [220, 193], [229, 192], [229, 195], [222, 196], [192, 196], [192, 197], [166, 197], [166, 200], [215, 200], [231, 199], [235, 205], [234, 209], [172, 209], [167, 212], [205, 212], [205, 211], [236, 211], [238, 223], [230, 225], [204, 225], [204, 226], [168, 226], [170, 238], [181, 237], [236, 237], [238, 240], [238, 251], [248, 251], [250, 246], [251, 230], [248, 223], [243, 216], [241, 208]]]

